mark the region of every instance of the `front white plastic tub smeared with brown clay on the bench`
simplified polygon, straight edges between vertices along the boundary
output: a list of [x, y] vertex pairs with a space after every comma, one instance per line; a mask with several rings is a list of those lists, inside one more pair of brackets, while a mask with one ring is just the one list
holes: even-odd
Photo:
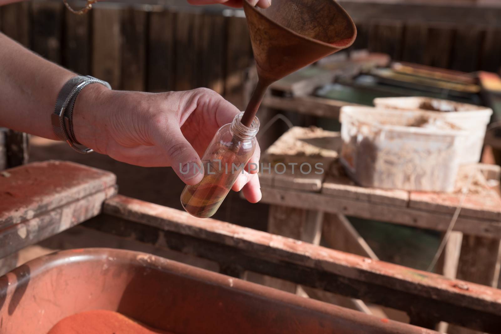
[[365, 187], [454, 189], [467, 131], [428, 113], [347, 106], [340, 115], [341, 163]]

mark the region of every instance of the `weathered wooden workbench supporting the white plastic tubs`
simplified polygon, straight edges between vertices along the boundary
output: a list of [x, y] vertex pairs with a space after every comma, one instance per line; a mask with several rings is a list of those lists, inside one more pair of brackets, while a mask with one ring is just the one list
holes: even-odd
[[[376, 254], [346, 216], [445, 231], [459, 203], [461, 187], [473, 172], [437, 271], [451, 278], [497, 286], [501, 199], [489, 185], [499, 184], [498, 166], [462, 168], [453, 193], [364, 188], [344, 175], [337, 161], [340, 148], [336, 132], [294, 127], [263, 154], [262, 162], [272, 166], [271, 173], [260, 174], [262, 202], [272, 204], [269, 232], [316, 244], [322, 237], [333, 248], [374, 258]], [[290, 167], [282, 175], [274, 172], [275, 164], [291, 162], [298, 163], [294, 175]], [[325, 173], [303, 175], [298, 168], [304, 162], [312, 166], [324, 163]], [[278, 169], [281, 172], [283, 166]]]

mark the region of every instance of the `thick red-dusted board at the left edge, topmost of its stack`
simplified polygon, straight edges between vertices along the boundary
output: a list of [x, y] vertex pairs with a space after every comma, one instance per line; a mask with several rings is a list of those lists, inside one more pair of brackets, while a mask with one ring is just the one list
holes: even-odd
[[0, 227], [31, 219], [116, 184], [113, 173], [63, 162], [35, 162], [0, 175]]

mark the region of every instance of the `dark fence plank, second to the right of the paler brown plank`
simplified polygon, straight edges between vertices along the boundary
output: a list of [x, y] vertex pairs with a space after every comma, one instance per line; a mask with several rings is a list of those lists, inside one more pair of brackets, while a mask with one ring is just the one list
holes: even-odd
[[167, 92], [175, 87], [176, 14], [162, 9], [149, 14], [148, 91]]

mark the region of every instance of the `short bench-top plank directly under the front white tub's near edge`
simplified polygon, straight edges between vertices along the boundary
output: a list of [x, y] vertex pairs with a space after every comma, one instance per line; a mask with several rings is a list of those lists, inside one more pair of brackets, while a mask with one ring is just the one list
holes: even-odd
[[347, 176], [329, 175], [322, 184], [322, 193], [353, 198], [369, 203], [397, 206], [407, 206], [409, 203], [408, 191], [360, 187]]

